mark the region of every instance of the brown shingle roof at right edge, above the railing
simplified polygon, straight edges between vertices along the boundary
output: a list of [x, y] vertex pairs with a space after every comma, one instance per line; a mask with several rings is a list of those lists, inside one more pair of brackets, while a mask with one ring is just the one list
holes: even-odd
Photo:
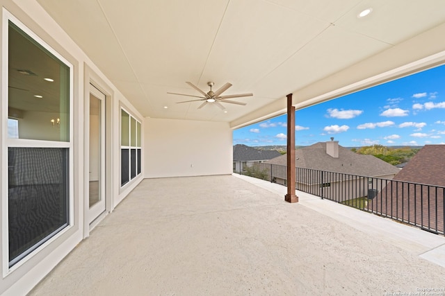
[[394, 180], [445, 186], [445, 145], [426, 145]]

